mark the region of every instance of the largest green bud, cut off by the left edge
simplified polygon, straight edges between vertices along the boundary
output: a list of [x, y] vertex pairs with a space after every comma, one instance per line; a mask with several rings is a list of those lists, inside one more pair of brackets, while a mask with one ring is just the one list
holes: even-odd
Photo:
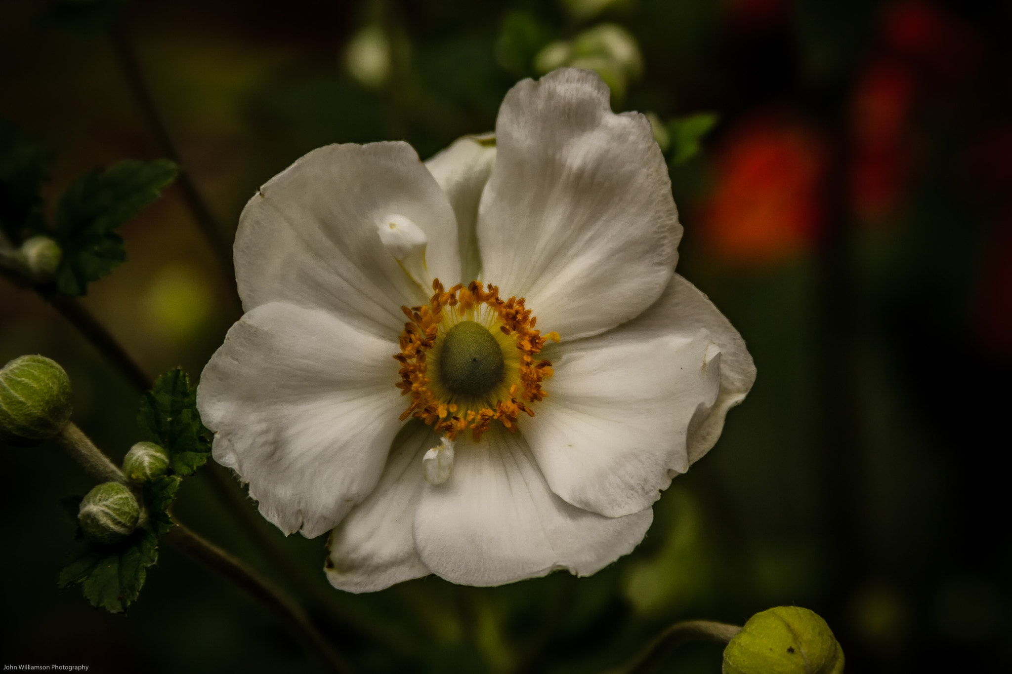
[[70, 377], [56, 361], [21, 356], [0, 370], [0, 441], [24, 447], [53, 438], [71, 409]]

